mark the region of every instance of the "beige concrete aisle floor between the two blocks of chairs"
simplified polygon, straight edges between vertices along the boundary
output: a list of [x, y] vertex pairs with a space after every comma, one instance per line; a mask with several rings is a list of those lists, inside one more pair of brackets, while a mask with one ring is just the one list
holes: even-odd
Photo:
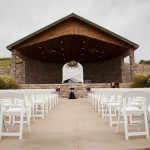
[[115, 126], [94, 111], [87, 99], [60, 99], [45, 119], [31, 124], [31, 133], [24, 129], [23, 140], [3, 137], [0, 150], [144, 150], [150, 139], [124, 139], [123, 130], [115, 133]]

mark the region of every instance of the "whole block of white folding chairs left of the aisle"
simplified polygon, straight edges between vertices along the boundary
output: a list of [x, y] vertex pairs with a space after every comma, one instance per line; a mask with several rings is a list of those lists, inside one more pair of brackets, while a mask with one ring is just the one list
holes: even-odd
[[55, 89], [0, 90], [0, 139], [2, 136], [22, 139], [24, 125], [30, 132], [31, 120], [44, 119], [56, 104]]

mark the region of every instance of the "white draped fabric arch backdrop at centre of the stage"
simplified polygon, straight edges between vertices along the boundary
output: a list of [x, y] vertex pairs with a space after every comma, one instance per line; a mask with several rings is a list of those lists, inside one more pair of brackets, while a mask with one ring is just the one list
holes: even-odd
[[68, 67], [67, 63], [63, 66], [63, 83], [65, 80], [83, 83], [83, 67], [78, 63], [77, 67]]

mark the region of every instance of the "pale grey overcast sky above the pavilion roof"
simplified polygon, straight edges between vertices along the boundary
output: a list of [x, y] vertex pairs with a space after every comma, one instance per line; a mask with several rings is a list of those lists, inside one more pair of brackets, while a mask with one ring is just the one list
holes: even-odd
[[139, 45], [135, 61], [150, 60], [150, 0], [0, 0], [0, 58], [6, 46], [71, 13]]

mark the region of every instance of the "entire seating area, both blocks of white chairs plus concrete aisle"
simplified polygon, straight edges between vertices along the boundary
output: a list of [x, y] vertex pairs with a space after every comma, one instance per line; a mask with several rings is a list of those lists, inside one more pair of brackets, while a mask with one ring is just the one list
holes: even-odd
[[55, 107], [58, 93], [54, 89], [0, 91], [0, 148], [150, 148], [149, 92], [94, 88], [88, 98], [59, 98]]

